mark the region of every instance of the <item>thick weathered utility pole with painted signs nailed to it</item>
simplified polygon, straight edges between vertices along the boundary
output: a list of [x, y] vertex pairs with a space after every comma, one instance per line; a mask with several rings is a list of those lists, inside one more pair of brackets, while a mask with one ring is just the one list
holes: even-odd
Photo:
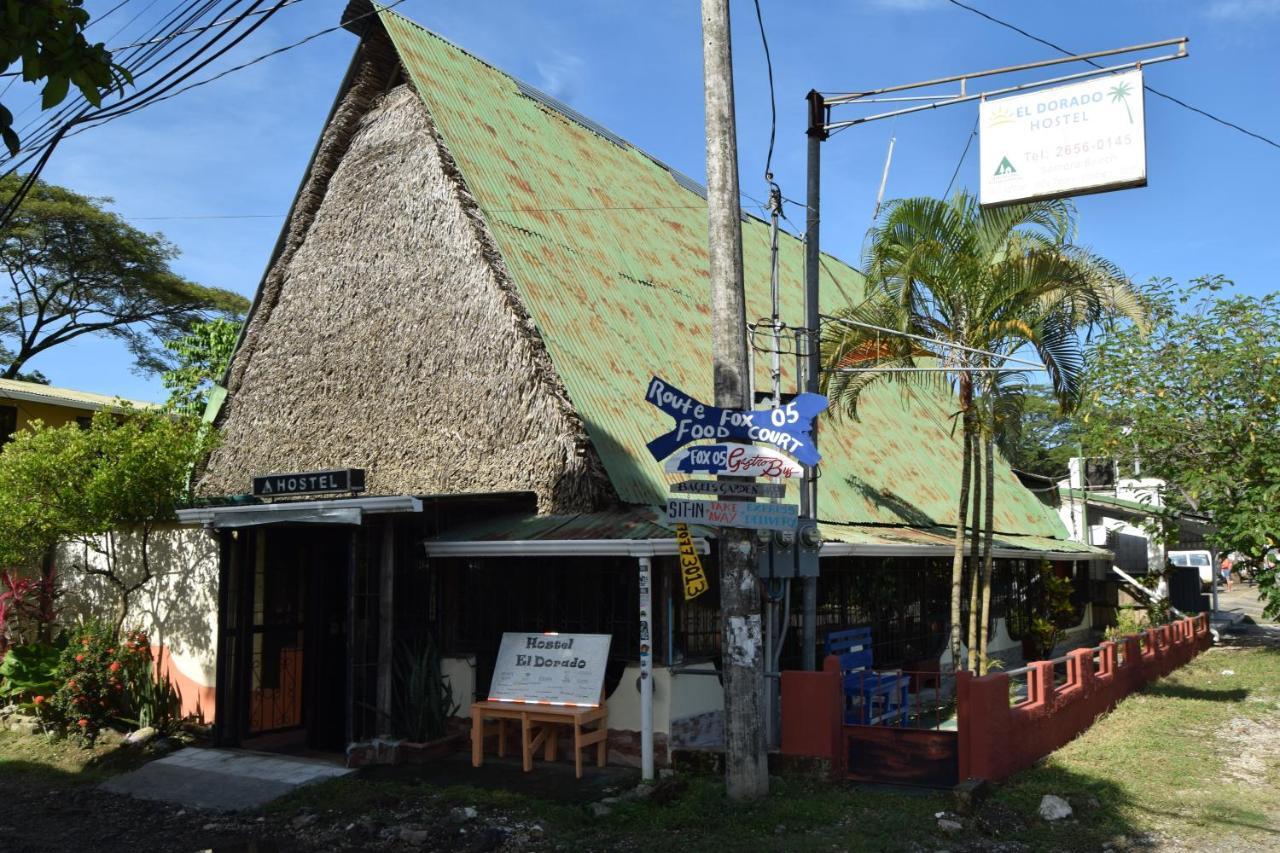
[[[733, 49], [728, 0], [703, 0], [703, 86], [707, 104], [707, 237], [712, 286], [716, 405], [750, 409], [742, 219], [733, 118]], [[724, 683], [724, 788], [730, 799], [769, 793], [764, 745], [764, 656], [755, 544], [750, 530], [719, 535], [721, 651]]]

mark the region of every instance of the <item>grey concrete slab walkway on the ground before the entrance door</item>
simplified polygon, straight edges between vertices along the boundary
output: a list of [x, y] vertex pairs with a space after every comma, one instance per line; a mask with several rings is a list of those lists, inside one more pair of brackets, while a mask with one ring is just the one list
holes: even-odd
[[188, 808], [256, 808], [296, 788], [352, 772], [340, 765], [243, 749], [188, 747], [102, 783], [102, 789]]

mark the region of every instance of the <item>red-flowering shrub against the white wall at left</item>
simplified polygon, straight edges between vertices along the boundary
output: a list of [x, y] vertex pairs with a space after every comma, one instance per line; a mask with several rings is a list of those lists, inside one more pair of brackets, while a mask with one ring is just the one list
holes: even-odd
[[56, 670], [58, 690], [49, 701], [72, 738], [84, 745], [108, 722], [129, 711], [127, 685], [151, 678], [151, 646], [143, 631], [88, 622], [70, 634]]

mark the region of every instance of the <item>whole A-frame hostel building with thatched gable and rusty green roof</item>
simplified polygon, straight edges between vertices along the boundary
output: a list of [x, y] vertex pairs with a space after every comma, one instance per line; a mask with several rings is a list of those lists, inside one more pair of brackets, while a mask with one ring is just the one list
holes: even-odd
[[[399, 15], [357, 28], [220, 394], [224, 441], [198, 485], [209, 505], [180, 514], [220, 543], [205, 569], [219, 578], [219, 738], [342, 749], [385, 731], [396, 649], [424, 633], [465, 708], [506, 630], [611, 634], [609, 724], [634, 731], [644, 557], [659, 758], [713, 742], [718, 679], [689, 674], [719, 653], [714, 530], [695, 532], [712, 589], [686, 602], [658, 508], [680, 478], [645, 448], [671, 421], [644, 401], [654, 375], [712, 398], [704, 192]], [[764, 316], [767, 224], [744, 218], [744, 245], [748, 313]], [[801, 268], [785, 236], [794, 323]], [[824, 268], [829, 307], [858, 298], [855, 270]], [[886, 386], [858, 421], [823, 423], [819, 642], [870, 624], [878, 662], [938, 666], [954, 407], [945, 392]], [[255, 476], [329, 469], [364, 471], [364, 491], [250, 496]], [[1098, 556], [1004, 462], [996, 528], [997, 616], [1019, 561], [1087, 580]], [[801, 658], [795, 587], [772, 588], [794, 603], [782, 666]]]

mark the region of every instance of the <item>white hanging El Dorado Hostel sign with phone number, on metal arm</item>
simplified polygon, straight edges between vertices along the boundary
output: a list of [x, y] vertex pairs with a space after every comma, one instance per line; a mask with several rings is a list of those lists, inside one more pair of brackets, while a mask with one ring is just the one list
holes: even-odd
[[1147, 186], [1142, 69], [984, 100], [982, 204]]

